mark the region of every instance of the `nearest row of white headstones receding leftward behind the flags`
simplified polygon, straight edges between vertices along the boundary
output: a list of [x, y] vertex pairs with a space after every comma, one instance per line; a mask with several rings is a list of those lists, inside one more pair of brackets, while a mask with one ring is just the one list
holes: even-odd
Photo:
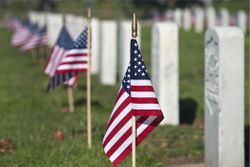
[[[72, 18], [71, 18], [72, 17]], [[73, 18], [74, 17], [74, 18]], [[77, 25], [77, 26], [76, 26]], [[55, 43], [62, 16], [48, 14], [49, 45]], [[82, 17], [66, 15], [75, 38]], [[130, 22], [120, 23], [120, 78], [129, 63]], [[155, 23], [152, 28], [152, 82], [165, 115], [163, 124], [179, 124], [178, 25]], [[102, 84], [116, 83], [117, 23], [93, 19], [94, 73]], [[139, 33], [140, 34], [140, 33]], [[139, 35], [140, 37], [140, 35]], [[238, 28], [216, 27], [205, 37], [205, 161], [209, 167], [243, 167], [244, 35]]]

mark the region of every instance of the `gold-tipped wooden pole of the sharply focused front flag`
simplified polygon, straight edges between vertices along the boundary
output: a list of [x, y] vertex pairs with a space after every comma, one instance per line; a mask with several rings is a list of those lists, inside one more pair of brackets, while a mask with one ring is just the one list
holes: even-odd
[[[132, 20], [132, 37], [137, 37], [137, 20], [136, 15], [133, 13]], [[136, 167], [136, 117], [132, 116], [132, 167]]]

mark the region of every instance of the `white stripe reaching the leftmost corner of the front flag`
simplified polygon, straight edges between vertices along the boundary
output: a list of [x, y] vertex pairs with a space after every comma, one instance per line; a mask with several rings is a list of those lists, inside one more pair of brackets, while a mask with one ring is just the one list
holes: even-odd
[[115, 120], [111, 123], [109, 128], [107, 129], [105, 136], [103, 138], [103, 142], [106, 140], [107, 136], [110, 132], [117, 126], [117, 124], [131, 111], [131, 104], [127, 105], [126, 108], [122, 110], [122, 112], [115, 118]]

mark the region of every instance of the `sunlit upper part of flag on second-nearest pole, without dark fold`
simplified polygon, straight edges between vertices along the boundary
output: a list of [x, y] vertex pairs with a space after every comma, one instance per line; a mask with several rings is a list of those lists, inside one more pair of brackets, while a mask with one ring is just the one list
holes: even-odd
[[74, 47], [65, 53], [56, 73], [86, 72], [88, 68], [88, 28], [74, 42]]

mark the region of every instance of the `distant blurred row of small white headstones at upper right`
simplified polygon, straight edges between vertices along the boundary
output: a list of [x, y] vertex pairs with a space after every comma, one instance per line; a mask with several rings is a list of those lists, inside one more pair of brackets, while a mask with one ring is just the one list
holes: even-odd
[[244, 33], [246, 32], [250, 18], [247, 19], [245, 11], [238, 11], [236, 16], [234, 16], [230, 15], [226, 8], [222, 8], [217, 13], [213, 7], [207, 9], [197, 7], [193, 9], [186, 8], [184, 10], [177, 8], [175, 10], [168, 10], [164, 19], [174, 21], [186, 31], [190, 30], [193, 26], [198, 33], [202, 32], [205, 27], [229, 25], [238, 26]]

